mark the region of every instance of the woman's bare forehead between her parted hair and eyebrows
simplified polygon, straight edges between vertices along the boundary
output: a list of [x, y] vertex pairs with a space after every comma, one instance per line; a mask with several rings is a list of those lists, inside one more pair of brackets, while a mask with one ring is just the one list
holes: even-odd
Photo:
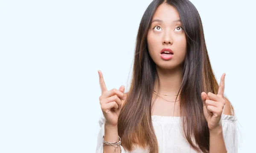
[[160, 19], [165, 23], [171, 23], [174, 20], [180, 19], [180, 16], [175, 7], [163, 3], [158, 6], [156, 12], [154, 13], [153, 20], [154, 19]]

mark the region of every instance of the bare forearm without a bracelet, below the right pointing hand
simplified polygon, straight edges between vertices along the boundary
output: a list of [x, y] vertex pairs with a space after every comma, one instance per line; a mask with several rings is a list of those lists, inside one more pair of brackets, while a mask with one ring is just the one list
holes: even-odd
[[222, 127], [218, 127], [218, 129], [210, 131], [209, 153], [227, 153]]

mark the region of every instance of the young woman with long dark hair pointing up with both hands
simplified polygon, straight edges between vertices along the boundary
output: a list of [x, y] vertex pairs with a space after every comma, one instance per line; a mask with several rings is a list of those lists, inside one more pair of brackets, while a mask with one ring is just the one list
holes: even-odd
[[[236, 153], [236, 117], [189, 0], [154, 0], [140, 22], [131, 88], [108, 90], [96, 153]], [[121, 142], [121, 143], [120, 143]]]

